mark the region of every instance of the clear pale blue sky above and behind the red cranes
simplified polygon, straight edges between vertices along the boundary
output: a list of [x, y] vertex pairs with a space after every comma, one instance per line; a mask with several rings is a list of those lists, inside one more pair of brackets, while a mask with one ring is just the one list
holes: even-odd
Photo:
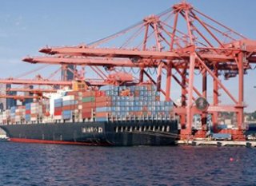
[[[38, 49], [44, 46], [90, 43], [133, 25], [150, 14], [158, 14], [177, 2], [180, 1], [0, 0], [0, 77], [15, 77], [38, 68], [40, 65], [26, 64], [22, 58], [42, 55]], [[247, 38], [256, 40], [256, 1], [187, 2]], [[245, 77], [248, 111], [256, 109], [255, 77], [256, 70]], [[230, 86], [233, 86], [231, 81]]]

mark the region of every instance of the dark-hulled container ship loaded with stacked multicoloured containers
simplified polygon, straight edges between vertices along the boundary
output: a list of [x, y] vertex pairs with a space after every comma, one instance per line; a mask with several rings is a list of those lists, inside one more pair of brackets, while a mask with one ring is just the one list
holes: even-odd
[[42, 101], [11, 107], [0, 127], [11, 141], [85, 145], [170, 145], [178, 139], [172, 101], [155, 85], [60, 89]]

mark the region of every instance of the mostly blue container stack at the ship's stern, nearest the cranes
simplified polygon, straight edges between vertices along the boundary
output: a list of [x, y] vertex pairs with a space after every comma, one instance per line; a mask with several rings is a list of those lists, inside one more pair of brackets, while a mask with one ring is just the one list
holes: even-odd
[[[96, 121], [173, 117], [173, 103], [160, 101], [160, 93], [154, 85], [107, 85], [103, 89], [106, 94], [96, 97]], [[101, 104], [97, 106], [98, 101]]]

